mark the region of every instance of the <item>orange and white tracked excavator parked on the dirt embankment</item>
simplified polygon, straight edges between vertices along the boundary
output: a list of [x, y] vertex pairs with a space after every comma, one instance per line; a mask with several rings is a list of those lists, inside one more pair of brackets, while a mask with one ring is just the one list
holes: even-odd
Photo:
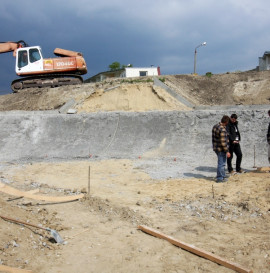
[[16, 57], [16, 74], [21, 78], [11, 83], [13, 92], [30, 87], [57, 87], [83, 83], [80, 75], [87, 73], [82, 53], [56, 48], [57, 58], [43, 59], [39, 46], [24, 41], [0, 42], [0, 54], [12, 52]]

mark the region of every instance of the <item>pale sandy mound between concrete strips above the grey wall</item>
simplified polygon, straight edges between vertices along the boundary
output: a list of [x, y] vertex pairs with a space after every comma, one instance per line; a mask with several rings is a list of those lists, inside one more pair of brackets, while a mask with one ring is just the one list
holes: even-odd
[[172, 111], [189, 108], [153, 84], [122, 84], [105, 91], [98, 89], [77, 104], [78, 112], [97, 111]]

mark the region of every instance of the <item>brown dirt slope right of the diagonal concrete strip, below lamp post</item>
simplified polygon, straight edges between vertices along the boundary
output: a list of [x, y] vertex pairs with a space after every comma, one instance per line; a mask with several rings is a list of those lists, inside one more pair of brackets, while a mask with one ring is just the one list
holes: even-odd
[[270, 71], [166, 76], [166, 84], [195, 105], [270, 103]]

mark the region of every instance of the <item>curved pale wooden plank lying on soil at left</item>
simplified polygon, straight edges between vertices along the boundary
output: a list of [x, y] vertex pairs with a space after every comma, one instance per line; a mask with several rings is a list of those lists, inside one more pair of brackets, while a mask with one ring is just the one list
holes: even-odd
[[18, 196], [18, 197], [26, 197], [29, 199], [34, 199], [34, 200], [42, 200], [42, 201], [47, 201], [47, 202], [68, 202], [68, 201], [74, 201], [78, 200], [84, 197], [84, 194], [77, 194], [77, 195], [71, 195], [71, 196], [46, 196], [46, 195], [35, 195], [32, 194], [32, 192], [25, 192], [25, 191], [20, 191], [15, 188], [12, 188], [6, 184], [3, 184], [0, 182], [0, 191]]

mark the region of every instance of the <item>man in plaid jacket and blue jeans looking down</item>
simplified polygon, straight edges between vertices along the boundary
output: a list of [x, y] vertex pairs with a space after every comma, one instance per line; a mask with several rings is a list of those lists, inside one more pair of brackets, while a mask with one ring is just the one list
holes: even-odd
[[228, 116], [223, 116], [221, 122], [216, 124], [212, 129], [213, 150], [218, 157], [217, 183], [227, 181], [225, 174], [226, 158], [231, 156], [229, 152], [229, 137], [226, 131], [229, 120]]

